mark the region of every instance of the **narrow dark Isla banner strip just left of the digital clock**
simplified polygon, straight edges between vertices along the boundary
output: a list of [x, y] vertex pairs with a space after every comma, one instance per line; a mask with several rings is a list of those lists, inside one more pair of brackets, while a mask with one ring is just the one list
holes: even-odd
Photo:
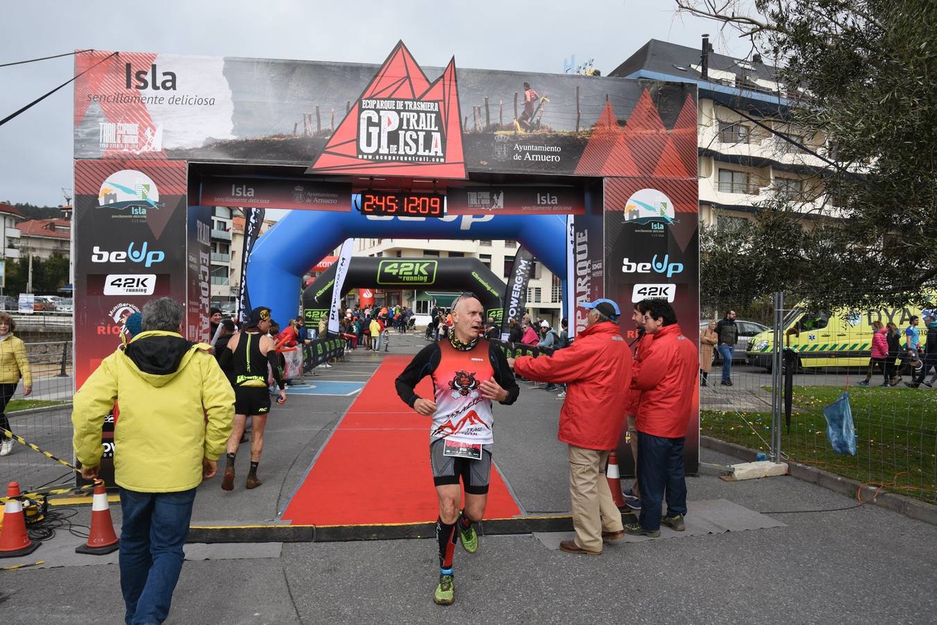
[[351, 186], [342, 183], [209, 176], [201, 181], [201, 205], [245, 208], [351, 210]]

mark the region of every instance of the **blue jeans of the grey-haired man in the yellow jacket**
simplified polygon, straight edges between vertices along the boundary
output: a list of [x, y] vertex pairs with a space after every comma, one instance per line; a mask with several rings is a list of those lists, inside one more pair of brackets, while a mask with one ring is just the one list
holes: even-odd
[[140, 493], [120, 489], [124, 524], [120, 533], [120, 587], [126, 625], [161, 623], [170, 613], [172, 591], [182, 571], [195, 489]]

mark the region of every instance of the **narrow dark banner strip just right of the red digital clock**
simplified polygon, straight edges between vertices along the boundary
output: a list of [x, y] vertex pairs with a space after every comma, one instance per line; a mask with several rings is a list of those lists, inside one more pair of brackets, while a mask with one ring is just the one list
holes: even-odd
[[450, 186], [446, 215], [582, 215], [575, 186]]

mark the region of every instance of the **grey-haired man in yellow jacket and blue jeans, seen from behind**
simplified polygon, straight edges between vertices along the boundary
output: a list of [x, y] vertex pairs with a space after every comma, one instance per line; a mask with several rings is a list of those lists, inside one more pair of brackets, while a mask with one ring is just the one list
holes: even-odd
[[[97, 478], [101, 425], [114, 402], [114, 480], [124, 523], [121, 590], [127, 623], [161, 623], [183, 562], [202, 479], [215, 477], [234, 418], [234, 391], [209, 346], [180, 335], [183, 308], [143, 306], [142, 332], [105, 358], [75, 394], [72, 444], [82, 477]], [[206, 418], [207, 417], [207, 418]]]

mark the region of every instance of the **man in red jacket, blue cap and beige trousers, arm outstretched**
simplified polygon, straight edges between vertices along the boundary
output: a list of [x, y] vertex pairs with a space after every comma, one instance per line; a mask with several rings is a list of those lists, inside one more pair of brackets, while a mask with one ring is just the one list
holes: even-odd
[[618, 445], [632, 379], [632, 352], [618, 330], [618, 305], [587, 302], [587, 328], [552, 356], [521, 356], [508, 364], [527, 379], [566, 384], [558, 439], [570, 446], [570, 500], [576, 538], [559, 543], [571, 554], [602, 555], [602, 541], [624, 536], [621, 513], [605, 479]]

